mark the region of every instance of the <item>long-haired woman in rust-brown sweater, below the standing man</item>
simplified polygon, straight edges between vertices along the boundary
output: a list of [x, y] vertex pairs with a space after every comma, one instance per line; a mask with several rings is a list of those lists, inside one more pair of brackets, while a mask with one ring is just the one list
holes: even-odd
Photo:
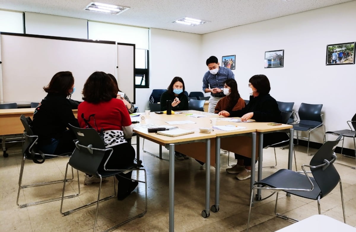
[[245, 107], [245, 100], [240, 97], [235, 79], [227, 79], [224, 83], [225, 97], [221, 98], [215, 107], [215, 114], [220, 111], [235, 111]]

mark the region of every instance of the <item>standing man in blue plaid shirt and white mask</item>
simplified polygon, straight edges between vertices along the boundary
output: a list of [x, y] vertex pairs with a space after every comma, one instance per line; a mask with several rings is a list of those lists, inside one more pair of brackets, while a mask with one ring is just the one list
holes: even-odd
[[211, 93], [209, 98], [209, 113], [214, 113], [219, 100], [225, 97], [224, 83], [227, 79], [235, 79], [234, 73], [229, 68], [219, 66], [218, 58], [210, 56], [206, 60], [209, 71], [203, 77], [204, 93]]

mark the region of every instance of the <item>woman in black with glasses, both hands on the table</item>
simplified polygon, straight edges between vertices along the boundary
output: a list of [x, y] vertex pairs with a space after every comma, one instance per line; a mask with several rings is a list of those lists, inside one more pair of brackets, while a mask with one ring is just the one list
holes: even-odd
[[[276, 122], [281, 123], [281, 111], [278, 109], [277, 101], [269, 95], [271, 86], [265, 75], [255, 75], [250, 78], [248, 87], [252, 89], [250, 101], [241, 110], [223, 110], [219, 115], [225, 117], [241, 117], [242, 122], [254, 119], [257, 122]], [[288, 135], [283, 132], [268, 133], [263, 136], [263, 147], [287, 140]], [[248, 156], [249, 154], [246, 154]], [[236, 154], [237, 164], [226, 169], [227, 172], [238, 174], [239, 180], [246, 180], [251, 177], [251, 158], [243, 154]]]

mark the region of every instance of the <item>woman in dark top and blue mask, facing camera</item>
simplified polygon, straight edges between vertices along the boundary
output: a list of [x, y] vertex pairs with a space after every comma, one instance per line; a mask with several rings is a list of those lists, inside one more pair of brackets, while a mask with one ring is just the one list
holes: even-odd
[[[174, 77], [167, 91], [161, 96], [161, 111], [167, 110], [167, 100], [172, 102], [172, 110], [188, 110], [188, 97], [184, 94], [185, 86], [181, 77]], [[177, 100], [177, 98], [179, 100]]]

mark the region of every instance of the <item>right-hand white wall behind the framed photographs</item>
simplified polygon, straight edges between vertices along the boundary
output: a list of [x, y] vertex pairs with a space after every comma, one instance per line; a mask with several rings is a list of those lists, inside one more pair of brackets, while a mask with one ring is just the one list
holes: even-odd
[[[326, 66], [326, 45], [356, 41], [356, 1], [203, 35], [202, 57], [236, 54], [235, 79], [248, 99], [248, 79], [265, 74], [271, 96], [282, 102], [324, 104], [326, 130], [347, 129], [356, 113], [356, 65]], [[342, 12], [342, 17], [337, 17]], [[264, 52], [284, 49], [283, 68], [264, 68]], [[220, 61], [221, 62], [221, 61]], [[312, 133], [313, 134], [313, 133]], [[323, 141], [316, 129], [311, 141]], [[305, 134], [306, 135], [306, 134]], [[329, 137], [330, 139], [334, 139]], [[346, 147], [354, 149], [351, 140]]]

